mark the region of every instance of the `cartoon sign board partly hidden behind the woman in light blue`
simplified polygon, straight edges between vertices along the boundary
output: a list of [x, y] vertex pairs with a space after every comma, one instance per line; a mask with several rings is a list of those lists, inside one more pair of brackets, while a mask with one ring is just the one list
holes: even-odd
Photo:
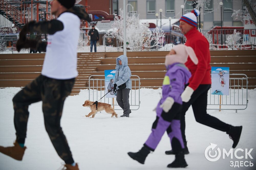
[[116, 93], [113, 92], [114, 89], [114, 79], [116, 70], [104, 70], [105, 72], [105, 94], [106, 98], [116, 98]]

